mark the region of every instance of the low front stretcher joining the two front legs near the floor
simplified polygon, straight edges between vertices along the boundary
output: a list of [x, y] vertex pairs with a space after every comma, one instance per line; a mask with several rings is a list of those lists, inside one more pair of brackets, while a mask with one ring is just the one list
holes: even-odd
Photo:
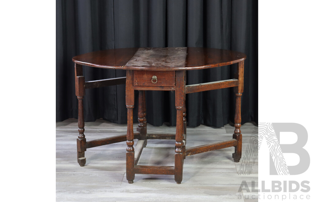
[[160, 175], [174, 175], [174, 166], [134, 166], [135, 174], [160, 174]]

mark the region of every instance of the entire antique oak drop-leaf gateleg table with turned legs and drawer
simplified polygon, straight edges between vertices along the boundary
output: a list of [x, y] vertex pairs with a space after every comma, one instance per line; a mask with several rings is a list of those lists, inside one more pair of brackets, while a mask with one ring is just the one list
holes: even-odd
[[[182, 181], [183, 160], [186, 156], [216, 149], [235, 147], [232, 157], [239, 162], [242, 150], [241, 95], [243, 92], [243, 72], [246, 55], [240, 52], [211, 48], [125, 48], [102, 50], [73, 57], [75, 63], [75, 92], [78, 97], [78, 163], [84, 166], [87, 148], [127, 142], [126, 174], [133, 183], [134, 174], [174, 175], [177, 184]], [[186, 85], [186, 71], [200, 70], [237, 63], [236, 78], [195, 85]], [[82, 65], [106, 69], [126, 70], [126, 77], [85, 82]], [[126, 84], [127, 134], [86, 142], [84, 135], [83, 97], [85, 89], [109, 85]], [[231, 140], [185, 148], [187, 93], [235, 87], [236, 115], [235, 131]], [[139, 91], [138, 127], [133, 132], [134, 90]], [[145, 91], [175, 91], [176, 134], [147, 134]], [[134, 139], [138, 139], [136, 152]], [[137, 165], [147, 139], [175, 139], [174, 166]]]

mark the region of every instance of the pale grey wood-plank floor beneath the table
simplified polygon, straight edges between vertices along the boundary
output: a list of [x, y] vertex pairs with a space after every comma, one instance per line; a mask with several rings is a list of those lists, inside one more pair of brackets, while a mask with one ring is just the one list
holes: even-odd
[[[134, 128], [137, 124], [134, 123]], [[76, 160], [77, 119], [56, 123], [56, 200], [57, 201], [257, 201], [252, 194], [239, 191], [245, 180], [258, 181], [258, 159], [243, 161], [252, 153], [250, 137], [254, 125], [242, 125], [242, 159], [234, 163], [234, 148], [225, 148], [188, 156], [184, 160], [183, 180], [176, 184], [173, 175], [135, 174], [133, 184], [125, 176], [126, 142], [89, 148], [85, 152], [86, 165]], [[126, 124], [103, 120], [85, 123], [87, 140], [125, 134]], [[215, 128], [199, 126], [187, 128], [187, 148], [229, 140], [233, 126]], [[175, 133], [175, 127], [148, 124], [149, 133]], [[174, 165], [175, 140], [148, 140], [138, 165]], [[241, 164], [242, 163], [242, 164]], [[240, 168], [241, 167], [241, 168]], [[242, 168], [250, 173], [238, 174]], [[243, 195], [244, 194], [244, 195]], [[249, 194], [249, 195], [248, 195]], [[241, 197], [241, 199], [239, 199]], [[249, 198], [249, 199], [245, 199]]]

